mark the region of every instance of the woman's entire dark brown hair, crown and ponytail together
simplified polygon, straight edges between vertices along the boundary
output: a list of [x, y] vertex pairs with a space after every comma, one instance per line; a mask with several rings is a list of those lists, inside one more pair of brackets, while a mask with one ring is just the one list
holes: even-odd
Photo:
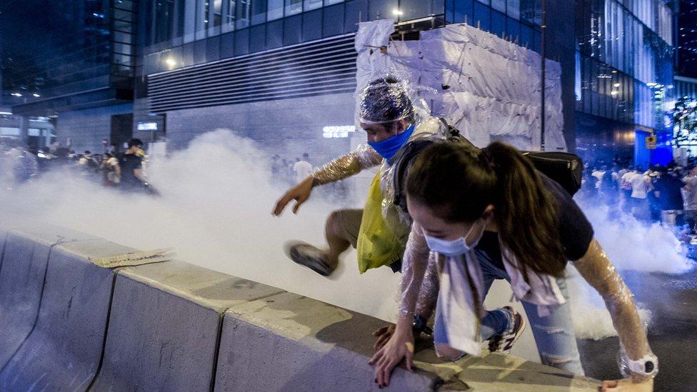
[[439, 218], [473, 223], [494, 206], [498, 234], [527, 270], [563, 274], [556, 200], [532, 162], [518, 150], [494, 142], [485, 152], [452, 142], [436, 142], [409, 169], [406, 193]]

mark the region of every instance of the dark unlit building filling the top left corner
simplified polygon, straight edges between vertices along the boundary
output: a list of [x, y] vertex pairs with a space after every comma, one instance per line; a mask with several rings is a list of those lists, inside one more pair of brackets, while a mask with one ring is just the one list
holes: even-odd
[[49, 116], [131, 101], [133, 3], [28, 0], [21, 6], [6, 4], [1, 31], [5, 104], [13, 106], [16, 114]]

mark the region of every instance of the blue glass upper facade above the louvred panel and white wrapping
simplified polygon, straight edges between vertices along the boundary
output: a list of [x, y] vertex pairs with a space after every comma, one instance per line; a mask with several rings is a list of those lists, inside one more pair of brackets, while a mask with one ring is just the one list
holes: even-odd
[[142, 11], [144, 74], [350, 34], [385, 18], [468, 23], [540, 46], [540, 0], [156, 0]]

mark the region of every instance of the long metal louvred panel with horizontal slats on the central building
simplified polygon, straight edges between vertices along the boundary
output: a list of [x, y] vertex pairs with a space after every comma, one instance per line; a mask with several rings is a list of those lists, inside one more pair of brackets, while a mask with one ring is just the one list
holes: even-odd
[[352, 92], [356, 89], [354, 36], [150, 75], [150, 111]]

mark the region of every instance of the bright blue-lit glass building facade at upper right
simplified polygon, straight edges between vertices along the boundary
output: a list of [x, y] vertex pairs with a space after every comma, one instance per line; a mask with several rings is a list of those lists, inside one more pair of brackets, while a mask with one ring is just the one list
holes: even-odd
[[593, 116], [663, 130], [673, 80], [672, 11], [663, 1], [576, 4], [581, 102]]

